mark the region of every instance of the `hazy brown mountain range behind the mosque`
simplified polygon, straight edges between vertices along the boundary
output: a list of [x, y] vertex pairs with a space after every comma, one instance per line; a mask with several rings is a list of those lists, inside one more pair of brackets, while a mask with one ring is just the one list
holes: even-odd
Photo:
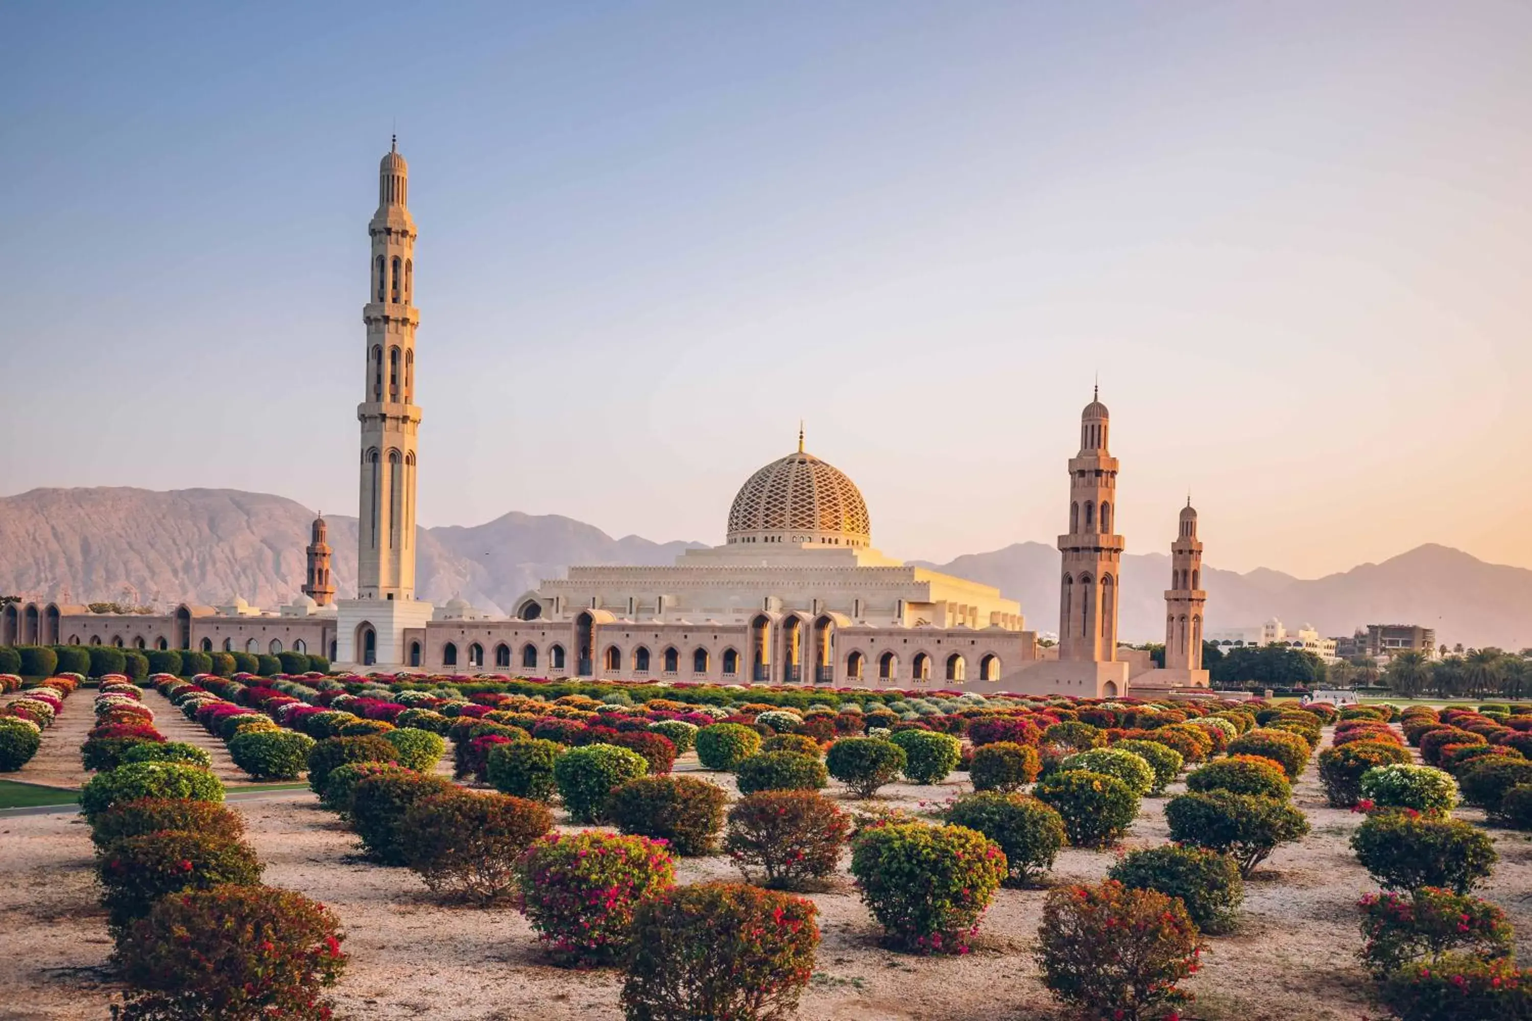
[[[296, 501], [239, 490], [43, 488], [0, 497], [0, 592], [74, 602], [225, 603], [242, 595], [276, 606], [297, 592], [303, 546], [314, 511]], [[357, 520], [326, 516], [332, 572], [340, 595], [355, 591]], [[613, 539], [558, 514], [512, 511], [473, 527], [418, 530], [421, 599], [461, 595], [483, 609], [504, 609], [541, 579], [571, 563], [648, 566], [671, 563], [703, 543]], [[1016, 599], [1028, 626], [1054, 631], [1059, 551], [1039, 542], [927, 563], [994, 585]], [[1163, 634], [1169, 556], [1124, 554], [1120, 634]], [[1311, 623], [1325, 635], [1348, 635], [1368, 623], [1416, 623], [1437, 640], [1507, 649], [1532, 646], [1532, 571], [1485, 563], [1466, 553], [1423, 545], [1382, 563], [1363, 563], [1321, 579], [1256, 568], [1244, 574], [1204, 566], [1207, 628], [1256, 625], [1270, 617], [1288, 628]]]

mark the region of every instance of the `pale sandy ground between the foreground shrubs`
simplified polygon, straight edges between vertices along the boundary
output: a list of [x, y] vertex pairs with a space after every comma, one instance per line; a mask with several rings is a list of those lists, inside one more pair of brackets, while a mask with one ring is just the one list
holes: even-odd
[[[74, 707], [72, 707], [74, 709]], [[694, 756], [679, 767], [697, 770]], [[729, 785], [729, 778], [700, 773]], [[958, 775], [961, 779], [962, 775]], [[965, 790], [884, 788], [884, 804], [933, 811]], [[1178, 787], [1172, 787], [1172, 791]], [[830, 791], [844, 796], [844, 791]], [[1379, 1016], [1356, 963], [1354, 902], [1373, 889], [1347, 839], [1359, 816], [1327, 808], [1313, 768], [1296, 787], [1313, 833], [1281, 848], [1247, 883], [1238, 932], [1210, 940], [1203, 970], [1187, 983], [1189, 1016], [1227, 1021], [1290, 1018], [1360, 1021]], [[847, 802], [849, 807], [855, 802]], [[1149, 799], [1124, 846], [1166, 839], [1163, 801]], [[348, 929], [351, 964], [334, 990], [343, 1018], [547, 1019], [620, 1018], [619, 975], [570, 972], [542, 961], [513, 909], [444, 908], [406, 869], [355, 857], [355, 840], [306, 791], [242, 802], [250, 836], [268, 862], [265, 879], [329, 903]], [[1480, 822], [1478, 813], [1462, 817]], [[1492, 830], [1500, 865], [1480, 894], [1498, 902], [1532, 955], [1532, 842]], [[110, 944], [89, 876], [90, 843], [72, 814], [0, 819], [0, 1021], [106, 1016], [116, 989], [104, 970]], [[1111, 853], [1066, 850], [1052, 882], [1102, 877]], [[735, 879], [728, 859], [683, 860], [680, 882]], [[1048, 1018], [1060, 1010], [1036, 978], [1031, 944], [1043, 891], [1000, 891], [974, 952], [919, 958], [878, 946], [878, 929], [843, 871], [813, 894], [824, 940], [800, 1016], [812, 1019]]]

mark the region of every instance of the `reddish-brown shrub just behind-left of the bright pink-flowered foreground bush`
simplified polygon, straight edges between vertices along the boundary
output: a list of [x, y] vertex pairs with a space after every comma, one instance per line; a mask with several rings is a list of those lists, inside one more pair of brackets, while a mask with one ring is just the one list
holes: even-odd
[[432, 892], [487, 905], [515, 889], [516, 859], [552, 828], [541, 802], [457, 788], [404, 811], [400, 857]]

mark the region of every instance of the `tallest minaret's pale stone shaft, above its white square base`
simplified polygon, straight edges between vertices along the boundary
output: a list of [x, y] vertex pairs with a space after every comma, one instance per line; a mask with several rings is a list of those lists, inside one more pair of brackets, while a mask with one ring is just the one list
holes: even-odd
[[415, 599], [415, 220], [409, 167], [394, 139], [378, 165], [378, 211], [371, 283], [362, 421], [362, 493], [357, 516], [357, 599]]

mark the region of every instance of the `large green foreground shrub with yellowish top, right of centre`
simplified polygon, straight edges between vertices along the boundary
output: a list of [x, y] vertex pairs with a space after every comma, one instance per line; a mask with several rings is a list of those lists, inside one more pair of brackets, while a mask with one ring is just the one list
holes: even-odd
[[892, 946], [961, 954], [1010, 868], [965, 827], [875, 825], [852, 842], [852, 876]]

